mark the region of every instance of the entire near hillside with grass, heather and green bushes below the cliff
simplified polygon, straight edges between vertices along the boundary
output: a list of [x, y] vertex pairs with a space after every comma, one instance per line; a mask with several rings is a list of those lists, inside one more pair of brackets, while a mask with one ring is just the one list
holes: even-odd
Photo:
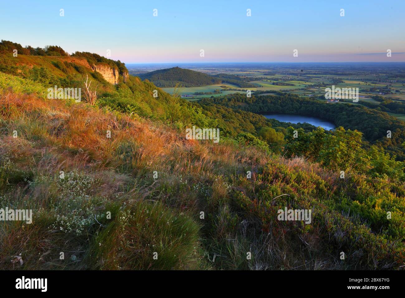
[[[0, 208], [33, 218], [0, 225], [1, 268], [405, 265], [403, 163], [364, 149], [360, 132], [296, 127], [296, 140], [249, 111], [188, 103], [135, 77], [92, 76], [94, 105], [47, 99], [53, 84], [83, 86], [87, 59], [38, 56], [37, 73], [22, 62], [32, 56], [19, 59], [0, 72]], [[85, 72], [60, 72], [60, 59]], [[192, 125], [219, 127], [220, 142], [186, 139]], [[311, 224], [279, 221], [284, 208], [311, 210]]]

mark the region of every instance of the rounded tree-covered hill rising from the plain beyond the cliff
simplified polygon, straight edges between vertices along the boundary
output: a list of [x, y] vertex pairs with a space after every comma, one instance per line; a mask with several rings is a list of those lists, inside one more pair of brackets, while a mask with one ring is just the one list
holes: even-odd
[[222, 83], [219, 78], [180, 67], [159, 69], [141, 74], [139, 77], [148, 79], [158, 87], [175, 87], [176, 84], [180, 84], [182, 87], [198, 87]]

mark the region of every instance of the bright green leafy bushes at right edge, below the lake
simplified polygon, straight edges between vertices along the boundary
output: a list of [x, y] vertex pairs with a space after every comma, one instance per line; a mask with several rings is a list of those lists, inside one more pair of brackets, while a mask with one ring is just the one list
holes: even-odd
[[295, 138], [294, 129], [290, 127], [286, 140], [284, 149], [288, 156], [304, 156], [339, 172], [367, 174], [384, 180], [390, 178], [393, 182], [405, 181], [404, 163], [395, 161], [395, 157], [390, 157], [377, 146], [367, 149], [358, 131], [338, 127], [328, 134], [322, 128], [309, 133], [299, 129]]

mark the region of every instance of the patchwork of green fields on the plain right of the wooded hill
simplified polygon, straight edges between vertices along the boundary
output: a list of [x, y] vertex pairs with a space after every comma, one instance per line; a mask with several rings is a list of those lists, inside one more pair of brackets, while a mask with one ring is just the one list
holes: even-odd
[[[305, 66], [305, 65], [304, 65]], [[232, 75], [240, 75], [243, 77], [251, 77], [251, 84], [256, 85], [256, 88], [240, 88], [232, 84], [217, 84], [202, 87], [180, 87], [177, 92], [181, 95], [191, 95], [187, 98], [190, 101], [198, 100], [211, 96], [222, 96], [235, 92], [246, 92], [246, 89], [254, 91], [282, 91], [299, 96], [308, 96], [317, 99], [324, 99], [325, 88], [335, 86], [335, 88], [358, 88], [359, 100], [377, 105], [379, 102], [372, 99], [371, 96], [381, 95], [392, 101], [399, 103], [405, 102], [405, 79], [401, 75], [394, 75], [384, 69], [384, 71], [376, 70], [364, 70], [360, 66], [354, 66], [354, 69], [342, 68], [335, 70], [333, 68], [326, 69], [319, 66], [317, 69], [293, 66], [279, 66], [271, 69], [223, 69], [223, 68], [194, 68], [196, 71], [201, 71], [210, 75], [217, 73], [226, 73]], [[331, 73], [331, 74], [328, 74]], [[334, 74], [334, 72], [336, 74]], [[399, 79], [397, 77], [399, 77]], [[292, 86], [282, 86], [292, 85]], [[226, 88], [224, 88], [226, 86]], [[232, 90], [227, 90], [231, 88]], [[175, 88], [162, 88], [164, 91], [173, 94]], [[217, 94], [194, 94], [194, 92], [218, 92]], [[345, 103], [340, 101], [339, 103]], [[346, 102], [347, 103], [347, 102]], [[362, 103], [355, 103], [356, 105], [362, 105]], [[389, 113], [390, 115], [405, 120], [405, 114], [401, 113]]]

